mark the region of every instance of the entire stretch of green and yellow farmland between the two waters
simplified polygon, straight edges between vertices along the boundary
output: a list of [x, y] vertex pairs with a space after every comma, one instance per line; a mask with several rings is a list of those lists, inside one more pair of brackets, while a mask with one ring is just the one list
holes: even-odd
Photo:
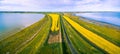
[[[0, 54], [120, 53], [119, 27], [72, 13], [44, 14], [38, 22], [1, 40]], [[90, 37], [95, 38], [94, 41]]]

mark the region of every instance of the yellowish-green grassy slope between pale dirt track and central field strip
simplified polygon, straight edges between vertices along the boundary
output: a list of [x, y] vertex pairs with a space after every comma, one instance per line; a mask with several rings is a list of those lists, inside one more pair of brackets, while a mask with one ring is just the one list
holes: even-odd
[[20, 51], [17, 52], [18, 54], [38, 54], [39, 49], [41, 47], [44, 47], [44, 43], [49, 35], [51, 24], [51, 20], [48, 18], [48, 16], [46, 18], [48, 19], [47, 23], [41, 28], [39, 33], [30, 43], [28, 43], [26, 46], [21, 48]]

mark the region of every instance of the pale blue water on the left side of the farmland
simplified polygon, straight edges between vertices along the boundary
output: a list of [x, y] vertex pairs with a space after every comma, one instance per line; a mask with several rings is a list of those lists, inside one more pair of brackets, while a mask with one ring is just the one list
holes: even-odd
[[25, 28], [39, 21], [44, 14], [34, 13], [0, 13], [0, 33], [14, 28]]

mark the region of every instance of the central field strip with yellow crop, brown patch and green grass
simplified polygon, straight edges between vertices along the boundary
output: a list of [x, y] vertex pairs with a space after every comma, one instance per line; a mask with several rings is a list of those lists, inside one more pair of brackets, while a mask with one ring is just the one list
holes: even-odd
[[63, 54], [60, 35], [60, 16], [55, 13], [47, 15], [51, 19], [51, 30], [44, 46], [38, 51], [38, 54]]

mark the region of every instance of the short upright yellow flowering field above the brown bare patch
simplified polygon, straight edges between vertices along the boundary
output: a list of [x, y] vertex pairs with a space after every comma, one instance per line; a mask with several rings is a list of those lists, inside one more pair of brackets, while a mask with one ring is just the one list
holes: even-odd
[[58, 14], [48, 14], [52, 18], [52, 26], [51, 26], [51, 31], [58, 31], [59, 30], [59, 25], [58, 25], [58, 20], [59, 20], [59, 15]]

